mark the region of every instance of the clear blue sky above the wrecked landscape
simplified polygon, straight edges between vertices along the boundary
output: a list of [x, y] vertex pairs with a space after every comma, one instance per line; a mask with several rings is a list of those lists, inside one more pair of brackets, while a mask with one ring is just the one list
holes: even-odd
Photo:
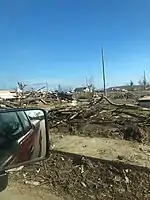
[[0, 87], [150, 80], [149, 0], [1, 0]]

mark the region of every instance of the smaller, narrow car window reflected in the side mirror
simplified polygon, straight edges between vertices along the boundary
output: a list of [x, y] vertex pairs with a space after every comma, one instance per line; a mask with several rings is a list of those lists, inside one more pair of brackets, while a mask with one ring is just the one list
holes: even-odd
[[26, 116], [26, 114], [24, 113], [24, 111], [19, 111], [19, 112], [17, 112], [17, 114], [23, 125], [24, 133], [26, 134], [31, 129], [30, 121], [29, 121], [28, 117]]

